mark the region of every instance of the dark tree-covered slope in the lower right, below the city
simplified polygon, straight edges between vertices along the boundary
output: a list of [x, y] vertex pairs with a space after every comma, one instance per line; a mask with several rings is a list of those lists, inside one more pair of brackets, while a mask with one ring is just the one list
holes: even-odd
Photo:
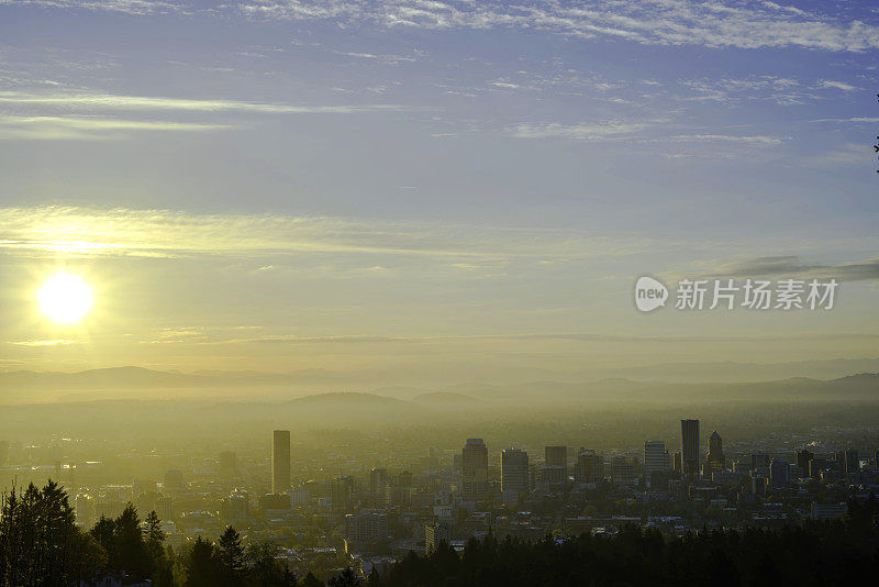
[[[879, 503], [849, 502], [842, 520], [779, 529], [703, 530], [667, 536], [627, 527], [614, 538], [582, 534], [528, 543], [470, 539], [458, 555], [441, 543], [431, 556], [410, 553], [378, 587], [834, 586], [875, 585], [879, 577]], [[371, 577], [370, 577], [371, 579]]]

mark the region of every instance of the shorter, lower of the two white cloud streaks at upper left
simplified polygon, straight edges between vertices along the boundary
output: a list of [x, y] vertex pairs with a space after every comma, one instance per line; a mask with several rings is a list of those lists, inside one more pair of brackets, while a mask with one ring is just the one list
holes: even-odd
[[0, 115], [0, 140], [100, 140], [124, 136], [131, 131], [205, 132], [231, 128], [227, 124], [120, 120], [97, 117]]

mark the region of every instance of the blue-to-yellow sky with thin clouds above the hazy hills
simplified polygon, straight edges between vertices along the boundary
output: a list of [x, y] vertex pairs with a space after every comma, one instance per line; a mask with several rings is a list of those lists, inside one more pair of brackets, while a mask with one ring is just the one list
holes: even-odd
[[0, 369], [876, 357], [878, 57], [855, 1], [0, 0]]

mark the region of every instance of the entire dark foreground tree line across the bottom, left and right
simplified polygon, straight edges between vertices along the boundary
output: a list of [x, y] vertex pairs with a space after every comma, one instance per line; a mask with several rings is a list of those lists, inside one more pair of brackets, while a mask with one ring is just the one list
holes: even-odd
[[[155, 511], [141, 522], [129, 505], [88, 530], [75, 524], [65, 490], [54, 481], [2, 496], [0, 587], [88, 586], [108, 576], [151, 579], [156, 587], [324, 587], [297, 577], [271, 542], [246, 546], [232, 528], [216, 542], [198, 538], [183, 552], [165, 545]], [[366, 580], [352, 568], [330, 587], [456, 587], [550, 585], [825, 586], [872, 584], [879, 577], [879, 502], [849, 501], [834, 521], [776, 530], [703, 530], [667, 536], [626, 527], [616, 536], [582, 534], [536, 543], [489, 533], [463, 553], [441, 542], [430, 556], [410, 552]], [[124, 580], [123, 580], [124, 583]]]

